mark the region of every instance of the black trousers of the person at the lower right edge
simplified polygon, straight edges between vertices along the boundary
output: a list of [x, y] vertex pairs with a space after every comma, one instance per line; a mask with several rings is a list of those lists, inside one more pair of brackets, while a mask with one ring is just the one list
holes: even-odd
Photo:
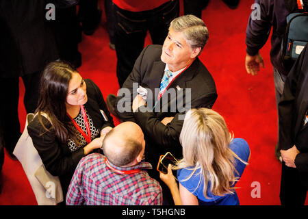
[[304, 205], [308, 186], [300, 181], [300, 175], [296, 168], [282, 164], [280, 201], [281, 205]]

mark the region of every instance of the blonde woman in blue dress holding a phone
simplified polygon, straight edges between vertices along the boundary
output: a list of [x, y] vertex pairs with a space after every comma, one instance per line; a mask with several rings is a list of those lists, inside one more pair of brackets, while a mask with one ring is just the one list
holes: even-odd
[[183, 159], [160, 173], [175, 205], [240, 205], [234, 187], [250, 157], [247, 142], [233, 139], [224, 118], [206, 108], [185, 115], [180, 142]]

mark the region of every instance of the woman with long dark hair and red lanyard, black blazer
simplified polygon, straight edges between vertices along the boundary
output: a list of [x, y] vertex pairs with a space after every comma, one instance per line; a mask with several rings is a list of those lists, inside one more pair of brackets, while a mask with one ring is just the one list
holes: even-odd
[[42, 73], [36, 116], [27, 129], [46, 169], [60, 177], [64, 198], [79, 160], [100, 149], [114, 127], [99, 87], [66, 62]]

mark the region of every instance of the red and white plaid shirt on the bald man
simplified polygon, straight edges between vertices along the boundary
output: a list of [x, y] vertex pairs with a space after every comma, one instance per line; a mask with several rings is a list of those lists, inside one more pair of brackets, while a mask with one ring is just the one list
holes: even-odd
[[[109, 162], [110, 164], [110, 162]], [[92, 153], [79, 162], [66, 195], [66, 205], [162, 205], [162, 188], [144, 169], [149, 163], [118, 167], [142, 169], [129, 175], [119, 174], [105, 164], [105, 156]]]

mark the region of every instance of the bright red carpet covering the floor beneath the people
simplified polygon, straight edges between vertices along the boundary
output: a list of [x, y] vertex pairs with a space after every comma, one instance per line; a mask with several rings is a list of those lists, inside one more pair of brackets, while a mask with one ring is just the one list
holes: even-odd
[[[209, 42], [200, 59], [213, 75], [218, 90], [214, 110], [224, 116], [235, 138], [244, 138], [251, 147], [251, 160], [237, 184], [241, 205], [280, 205], [281, 164], [274, 156], [277, 140], [277, 110], [274, 97], [270, 42], [261, 50], [265, 68], [253, 77], [246, 73], [245, 31], [253, 0], [241, 1], [239, 8], [230, 10], [222, 1], [210, 1], [203, 10], [203, 21], [209, 29]], [[183, 12], [183, 7], [181, 8]], [[79, 50], [82, 66], [79, 72], [101, 88], [104, 98], [118, 91], [116, 53], [109, 47], [102, 25], [93, 36], [83, 36]], [[146, 44], [151, 43], [149, 38]], [[25, 125], [23, 84], [21, 83], [19, 112], [21, 128]], [[115, 125], [118, 121], [115, 120]], [[21, 164], [5, 154], [3, 192], [0, 205], [36, 205], [34, 194]], [[259, 183], [259, 196], [255, 192]], [[306, 201], [308, 204], [308, 201]]]

